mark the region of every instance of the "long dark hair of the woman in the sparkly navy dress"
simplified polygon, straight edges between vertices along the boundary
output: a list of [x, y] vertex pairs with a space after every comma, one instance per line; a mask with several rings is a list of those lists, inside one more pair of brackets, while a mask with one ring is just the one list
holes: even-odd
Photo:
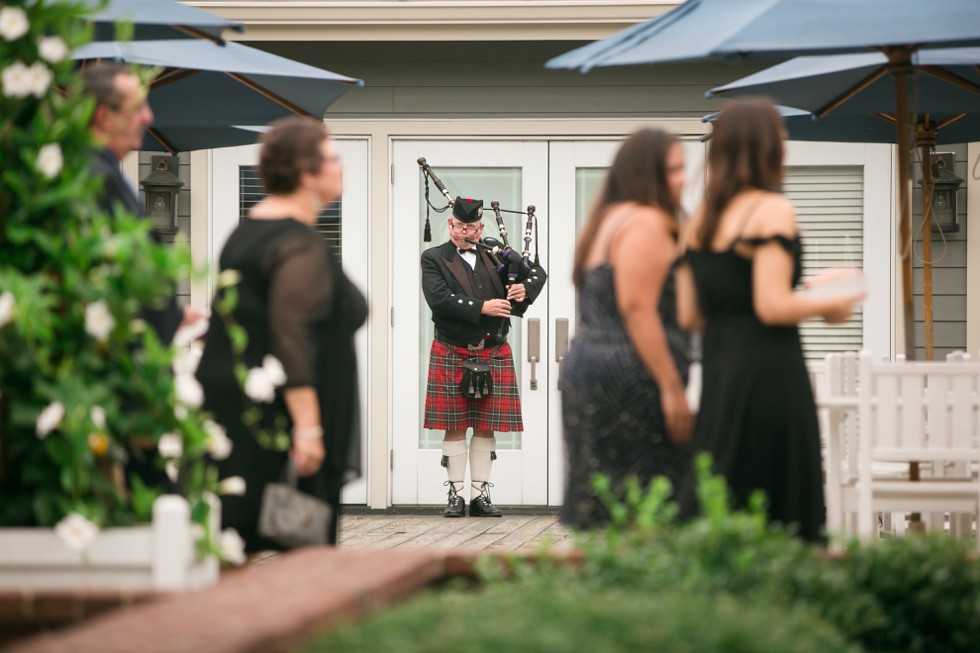
[[672, 219], [677, 219], [680, 206], [667, 184], [667, 152], [679, 142], [676, 136], [660, 129], [641, 129], [623, 141], [579, 234], [572, 267], [576, 288], [582, 286], [585, 261], [610, 206], [618, 202], [636, 202], [660, 208]]

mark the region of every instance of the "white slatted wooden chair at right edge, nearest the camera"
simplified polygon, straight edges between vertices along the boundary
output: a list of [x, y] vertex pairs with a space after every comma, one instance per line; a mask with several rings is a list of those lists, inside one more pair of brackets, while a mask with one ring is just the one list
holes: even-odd
[[[980, 364], [879, 362], [862, 354], [858, 376], [857, 534], [875, 535], [878, 512], [965, 513], [976, 519]], [[932, 473], [918, 481], [877, 473], [882, 463], [912, 462], [931, 465]]]

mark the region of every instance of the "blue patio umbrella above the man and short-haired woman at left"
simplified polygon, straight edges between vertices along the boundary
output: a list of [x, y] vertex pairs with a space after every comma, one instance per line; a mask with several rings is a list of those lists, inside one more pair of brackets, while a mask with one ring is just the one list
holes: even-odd
[[290, 114], [322, 120], [331, 103], [364, 85], [239, 43], [202, 39], [94, 42], [71, 56], [161, 69], [150, 83], [155, 120], [147, 150], [254, 143], [261, 126]]

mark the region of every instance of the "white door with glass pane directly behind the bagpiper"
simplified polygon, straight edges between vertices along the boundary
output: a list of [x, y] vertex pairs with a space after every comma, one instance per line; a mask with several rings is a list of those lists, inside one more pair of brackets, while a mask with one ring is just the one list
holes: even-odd
[[[442, 431], [422, 426], [429, 348], [433, 326], [421, 291], [419, 256], [428, 247], [449, 238], [448, 212], [430, 209], [432, 241], [423, 242], [426, 217], [424, 185], [417, 160], [425, 157], [452, 196], [484, 201], [484, 235], [497, 237], [498, 230], [490, 202], [502, 209], [523, 211], [534, 204], [539, 217], [537, 233], [542, 245], [544, 268], [548, 269], [543, 244], [552, 232], [548, 206], [548, 144], [520, 141], [433, 141], [397, 140], [392, 143], [394, 182], [392, 187], [391, 231], [395, 243], [391, 260], [393, 327], [391, 331], [392, 397], [392, 503], [444, 503], [445, 470], [440, 467]], [[431, 181], [429, 198], [442, 207], [446, 200]], [[504, 213], [509, 243], [520, 249], [524, 216]], [[544, 292], [524, 317], [512, 318], [508, 342], [520, 384], [524, 432], [498, 433], [497, 461], [491, 474], [495, 487], [493, 500], [504, 505], [543, 505], [548, 500], [548, 367], [532, 364], [529, 357], [537, 347], [544, 351], [544, 330], [532, 341], [529, 328], [547, 320], [548, 293]], [[530, 325], [530, 326], [529, 326]], [[539, 354], [540, 356], [540, 354]], [[468, 434], [472, 436], [472, 432]]]

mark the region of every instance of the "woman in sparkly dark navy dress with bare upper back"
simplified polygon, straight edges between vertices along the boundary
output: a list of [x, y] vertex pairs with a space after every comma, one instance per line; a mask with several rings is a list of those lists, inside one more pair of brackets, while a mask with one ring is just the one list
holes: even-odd
[[675, 317], [673, 262], [684, 150], [642, 130], [620, 147], [579, 236], [572, 279], [581, 321], [562, 361], [567, 470], [561, 519], [594, 528], [609, 513], [592, 489], [636, 478], [672, 483], [689, 467], [687, 334]]

